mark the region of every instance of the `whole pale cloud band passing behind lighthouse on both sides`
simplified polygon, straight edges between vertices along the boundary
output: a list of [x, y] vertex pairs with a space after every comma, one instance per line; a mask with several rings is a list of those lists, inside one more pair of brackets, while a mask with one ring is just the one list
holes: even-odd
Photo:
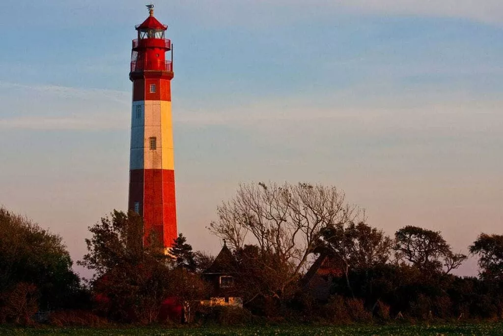
[[[130, 93], [47, 85], [0, 82], [0, 128], [128, 129]], [[295, 94], [260, 101], [178, 101], [174, 121], [192, 126], [275, 128], [291, 131], [299, 124], [345, 125], [341, 131], [385, 132], [456, 129], [469, 132], [501, 131], [503, 101], [470, 92], [401, 91], [367, 83], [314, 97]], [[197, 105], [197, 104], [196, 104]]]

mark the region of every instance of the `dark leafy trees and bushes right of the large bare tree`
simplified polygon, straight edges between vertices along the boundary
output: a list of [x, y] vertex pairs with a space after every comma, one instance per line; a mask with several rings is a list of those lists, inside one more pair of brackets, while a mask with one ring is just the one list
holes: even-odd
[[[391, 239], [360, 223], [339, 233], [326, 230], [323, 238], [327, 258], [339, 261], [342, 272], [331, 280], [326, 305], [312, 309], [311, 316], [323, 314], [325, 308], [342, 320], [503, 316], [503, 264], [499, 271], [495, 268], [503, 261], [497, 257], [497, 251], [503, 251], [503, 236], [482, 234], [469, 246], [471, 253], [481, 256], [479, 278], [450, 274], [466, 256], [453, 253], [439, 232], [407, 226]], [[487, 258], [492, 260], [489, 267], [482, 265]], [[316, 307], [312, 298], [302, 300], [310, 304], [301, 307]]]

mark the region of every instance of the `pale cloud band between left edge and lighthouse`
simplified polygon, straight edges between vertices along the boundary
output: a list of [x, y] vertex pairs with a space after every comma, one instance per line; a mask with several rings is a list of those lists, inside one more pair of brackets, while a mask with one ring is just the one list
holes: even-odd
[[0, 128], [115, 129], [129, 127], [130, 93], [0, 82]]

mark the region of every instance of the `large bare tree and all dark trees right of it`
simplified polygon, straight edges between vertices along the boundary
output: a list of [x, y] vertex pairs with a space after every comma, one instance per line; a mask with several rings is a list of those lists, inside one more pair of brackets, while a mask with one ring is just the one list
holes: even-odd
[[467, 256], [440, 232], [405, 226], [390, 237], [335, 187], [243, 184], [217, 214], [209, 229], [232, 246], [239, 295], [254, 314], [330, 323], [503, 316], [501, 235], [476, 238], [468, 250], [479, 277], [462, 278], [452, 271]]

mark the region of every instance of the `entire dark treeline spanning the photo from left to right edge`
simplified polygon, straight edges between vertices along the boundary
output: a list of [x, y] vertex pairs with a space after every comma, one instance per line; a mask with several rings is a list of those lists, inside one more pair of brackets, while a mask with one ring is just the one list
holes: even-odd
[[[503, 317], [503, 236], [469, 246], [479, 277], [452, 271], [467, 256], [440, 232], [405, 226], [394, 236], [366, 223], [332, 186], [251, 183], [217, 207], [208, 230], [230, 257], [215, 289], [214, 257], [180, 235], [170, 255], [142, 219], [114, 211], [90, 228], [79, 281], [58, 235], [0, 210], [0, 321], [56, 325], [117, 323], [350, 323]], [[208, 307], [214, 296], [243, 308]], [[37, 312], [49, 312], [40, 317]]]

